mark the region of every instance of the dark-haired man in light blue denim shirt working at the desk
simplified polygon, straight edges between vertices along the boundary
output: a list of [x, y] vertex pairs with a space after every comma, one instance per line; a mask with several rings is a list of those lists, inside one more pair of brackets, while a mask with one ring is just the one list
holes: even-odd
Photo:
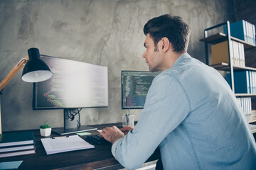
[[139, 121], [127, 135], [117, 127], [100, 135], [127, 169], [141, 166], [159, 146], [164, 169], [256, 169], [256, 146], [227, 82], [186, 53], [190, 30], [178, 16], [144, 26], [143, 58], [151, 84]]

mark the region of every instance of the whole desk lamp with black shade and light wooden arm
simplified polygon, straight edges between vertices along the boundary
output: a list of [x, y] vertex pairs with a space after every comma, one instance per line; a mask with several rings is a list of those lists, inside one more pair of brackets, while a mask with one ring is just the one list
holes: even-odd
[[[26, 82], [40, 82], [53, 77], [48, 65], [40, 59], [39, 50], [37, 48], [28, 49], [28, 56], [21, 59], [16, 66], [11, 69], [11, 72], [4, 77], [0, 83], [0, 94], [4, 86], [18, 73], [18, 71], [25, 65], [21, 79]], [[0, 135], [1, 132], [1, 102], [0, 102]]]

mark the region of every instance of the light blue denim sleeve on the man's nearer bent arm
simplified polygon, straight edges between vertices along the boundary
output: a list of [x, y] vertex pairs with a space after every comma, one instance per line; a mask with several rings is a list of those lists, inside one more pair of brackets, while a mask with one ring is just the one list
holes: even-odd
[[151, 84], [134, 130], [112, 145], [115, 159], [127, 169], [144, 164], [161, 141], [186, 118], [189, 108], [181, 83], [175, 77], [159, 74]]

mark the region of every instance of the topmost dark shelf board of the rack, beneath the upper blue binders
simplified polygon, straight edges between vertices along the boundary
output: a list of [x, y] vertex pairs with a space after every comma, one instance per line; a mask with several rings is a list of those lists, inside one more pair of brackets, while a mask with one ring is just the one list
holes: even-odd
[[[231, 40], [235, 40], [236, 42], [240, 42], [244, 45], [244, 48], [245, 50], [251, 50], [251, 49], [254, 49], [256, 48], [256, 45], [251, 45], [243, 40], [240, 40], [238, 38], [234, 38], [234, 37], [231, 37]], [[228, 36], [225, 35], [224, 33], [217, 33], [215, 35], [210, 35], [208, 38], [202, 38], [200, 39], [200, 41], [203, 41], [203, 42], [207, 42], [207, 43], [210, 43], [210, 44], [217, 44], [219, 42], [223, 42], [225, 40], [228, 40]]]

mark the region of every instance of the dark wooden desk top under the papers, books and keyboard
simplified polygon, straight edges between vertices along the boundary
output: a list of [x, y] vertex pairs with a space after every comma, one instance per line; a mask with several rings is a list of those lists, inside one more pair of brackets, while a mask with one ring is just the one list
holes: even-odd
[[[105, 124], [93, 125], [98, 129], [112, 125], [121, 124]], [[23, 155], [18, 157], [1, 158], [0, 162], [23, 161], [18, 169], [122, 169], [123, 166], [114, 159], [111, 153], [111, 144], [95, 145], [95, 149], [85, 149], [73, 152], [63, 152], [60, 154], [47, 155], [41, 142], [39, 130], [33, 130], [36, 137], [36, 154]], [[92, 135], [98, 134], [96, 130], [90, 131]], [[58, 136], [52, 133], [51, 136]], [[86, 136], [81, 136], [86, 139]], [[136, 154], [136, 153], [134, 153]], [[159, 158], [159, 150], [147, 160], [153, 161]]]

